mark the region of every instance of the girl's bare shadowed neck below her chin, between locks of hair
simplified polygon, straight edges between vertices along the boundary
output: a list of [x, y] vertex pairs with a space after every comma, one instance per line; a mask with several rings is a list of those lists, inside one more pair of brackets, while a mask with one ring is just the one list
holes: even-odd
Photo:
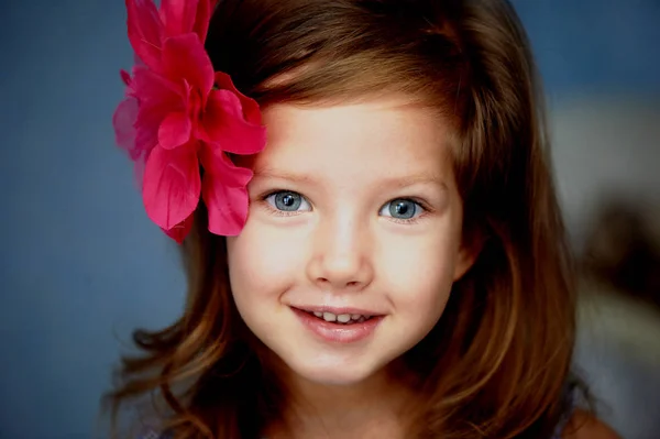
[[290, 370], [282, 374], [287, 388], [283, 419], [266, 431], [268, 439], [405, 438], [413, 400], [410, 383], [384, 370], [351, 385], [324, 385]]

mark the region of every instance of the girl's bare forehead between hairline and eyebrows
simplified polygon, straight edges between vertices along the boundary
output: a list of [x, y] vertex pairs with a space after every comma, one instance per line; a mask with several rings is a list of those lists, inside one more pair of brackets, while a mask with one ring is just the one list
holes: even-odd
[[255, 174], [292, 172], [342, 178], [406, 177], [449, 172], [449, 127], [429, 109], [404, 100], [334, 106], [273, 105], [263, 110], [266, 149]]

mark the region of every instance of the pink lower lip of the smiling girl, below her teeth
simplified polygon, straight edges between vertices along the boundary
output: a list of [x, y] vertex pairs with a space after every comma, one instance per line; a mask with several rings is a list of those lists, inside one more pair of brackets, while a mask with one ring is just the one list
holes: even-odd
[[384, 316], [372, 317], [360, 323], [333, 323], [307, 311], [292, 308], [302, 325], [321, 339], [336, 343], [354, 343], [370, 337], [383, 321]]

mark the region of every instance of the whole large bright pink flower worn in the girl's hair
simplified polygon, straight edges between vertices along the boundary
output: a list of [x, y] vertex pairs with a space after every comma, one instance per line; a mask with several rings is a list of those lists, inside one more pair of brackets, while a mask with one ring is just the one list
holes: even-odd
[[[229, 75], [213, 72], [204, 42], [216, 0], [127, 0], [132, 75], [113, 125], [135, 162], [147, 216], [183, 242], [199, 197], [209, 231], [239, 234], [248, 219], [252, 172], [228, 153], [256, 154], [266, 143], [258, 105]], [[204, 177], [200, 174], [204, 168]]]

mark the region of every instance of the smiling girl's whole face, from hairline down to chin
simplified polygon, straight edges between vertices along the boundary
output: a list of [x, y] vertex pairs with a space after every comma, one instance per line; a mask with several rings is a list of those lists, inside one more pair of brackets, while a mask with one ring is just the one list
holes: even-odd
[[382, 371], [472, 262], [449, 128], [405, 103], [264, 109], [249, 219], [228, 238], [231, 288], [248, 327], [311, 382]]

